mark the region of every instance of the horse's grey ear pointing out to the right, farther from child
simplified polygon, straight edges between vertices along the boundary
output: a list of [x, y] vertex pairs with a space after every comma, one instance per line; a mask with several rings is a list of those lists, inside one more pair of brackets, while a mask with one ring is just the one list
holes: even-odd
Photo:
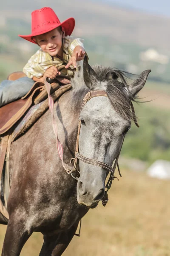
[[132, 96], [135, 96], [136, 93], [138, 93], [144, 87], [144, 84], [146, 83], [147, 80], [147, 76], [149, 75], [150, 72], [151, 70], [143, 71], [139, 75], [139, 77], [132, 84], [129, 85], [129, 91]]

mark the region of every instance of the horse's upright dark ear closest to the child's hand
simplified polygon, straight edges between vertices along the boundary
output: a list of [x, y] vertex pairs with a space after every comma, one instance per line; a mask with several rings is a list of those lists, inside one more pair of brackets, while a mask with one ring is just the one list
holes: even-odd
[[97, 74], [94, 72], [92, 67], [88, 64], [88, 58], [86, 56], [83, 62], [83, 76], [84, 76], [85, 84], [90, 90], [93, 90], [95, 87], [95, 84], [100, 81]]

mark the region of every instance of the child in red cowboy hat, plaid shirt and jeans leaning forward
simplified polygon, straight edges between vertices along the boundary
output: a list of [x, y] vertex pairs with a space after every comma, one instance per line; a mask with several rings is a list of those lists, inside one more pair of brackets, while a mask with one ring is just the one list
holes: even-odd
[[[71, 78], [77, 61], [85, 56], [82, 41], [70, 37], [75, 26], [74, 18], [60, 23], [55, 12], [44, 7], [32, 12], [31, 35], [19, 35], [40, 49], [28, 60], [23, 68], [26, 77], [15, 81], [4, 80], [0, 84], [0, 107], [26, 95], [35, 81], [44, 82], [45, 77], [54, 79], [57, 75]], [[61, 72], [58, 67], [65, 64]]]

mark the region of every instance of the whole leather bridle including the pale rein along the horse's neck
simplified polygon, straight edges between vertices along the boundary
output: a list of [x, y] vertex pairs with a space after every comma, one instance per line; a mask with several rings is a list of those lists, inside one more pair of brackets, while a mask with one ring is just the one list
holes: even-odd
[[[51, 84], [49, 84], [46, 81], [46, 79], [45, 79], [45, 88], [46, 88], [46, 90], [48, 92], [48, 106], [49, 106], [49, 109], [51, 111], [52, 126], [53, 126], [53, 130], [54, 130], [54, 134], [56, 136], [57, 150], [58, 150], [58, 153], [59, 153], [59, 157], [62, 160], [62, 166], [65, 169], [65, 171], [68, 174], [70, 174], [74, 179], [79, 180], [78, 177], [74, 177], [73, 172], [76, 172], [76, 171], [79, 172], [78, 160], [80, 160], [80, 161], [82, 161], [84, 163], [100, 166], [100, 167], [104, 168], [105, 170], [111, 172], [110, 177], [108, 179], [108, 182], [107, 182], [107, 184], [105, 186], [106, 191], [105, 191], [104, 197], [102, 198], [102, 204], [103, 204], [103, 206], [105, 206], [107, 204], [107, 202], [108, 202], [108, 193], [107, 192], [111, 188], [112, 181], [114, 180], [114, 178], [117, 178], [117, 177], [114, 176], [116, 166], [118, 167], [119, 175], [122, 177], [122, 175], [120, 174], [118, 159], [119, 159], [119, 155], [120, 155], [120, 151], [122, 149], [122, 145], [123, 145], [124, 139], [122, 141], [122, 145], [121, 145], [121, 148], [119, 150], [119, 153], [116, 156], [115, 162], [113, 162], [113, 165], [112, 165], [113, 167], [109, 166], [107, 163], [103, 163], [103, 162], [100, 162], [98, 160], [94, 160], [94, 159], [91, 159], [91, 158], [84, 157], [84, 156], [82, 156], [79, 153], [79, 134], [80, 134], [80, 128], [81, 128], [81, 120], [79, 120], [79, 123], [78, 123], [78, 133], [77, 133], [77, 141], [76, 141], [76, 151], [75, 151], [74, 158], [71, 159], [71, 163], [74, 162], [74, 166], [68, 166], [67, 164], [64, 163], [64, 160], [63, 160], [63, 148], [62, 148], [62, 144], [60, 143], [60, 141], [58, 139], [58, 126], [57, 126], [57, 122], [55, 122], [54, 113], [53, 113], [54, 101], [53, 101], [53, 99], [51, 97], [51, 94], [50, 94]], [[83, 107], [85, 106], [86, 102], [88, 102], [90, 99], [92, 99], [94, 97], [99, 97], [99, 96], [108, 97], [108, 94], [107, 94], [107, 92], [105, 90], [91, 90], [91, 91], [89, 91], [85, 95], [85, 97], [83, 99], [83, 103], [82, 103], [82, 106], [81, 106], [81, 109], [80, 109], [80, 112], [79, 112], [79, 116], [80, 116], [80, 113], [81, 113]], [[136, 124], [136, 126], [139, 127], [139, 125], [137, 123], [137, 120], [136, 120], [135, 110], [133, 108], [132, 102], [130, 103], [130, 107], [131, 107], [131, 110], [132, 110], [133, 121]]]

